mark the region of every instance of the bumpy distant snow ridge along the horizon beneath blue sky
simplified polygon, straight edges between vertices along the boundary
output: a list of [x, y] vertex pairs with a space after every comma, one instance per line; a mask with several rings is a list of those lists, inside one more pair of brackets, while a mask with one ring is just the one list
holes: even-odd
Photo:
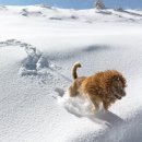
[[[20, 7], [19, 10], [14, 10], [14, 7], [2, 5], [0, 12], [13, 13], [13, 15], [21, 15], [25, 17], [43, 17], [49, 21], [72, 21], [94, 23], [99, 22], [142, 22], [142, 14], [138, 10], [130, 11], [129, 9], [88, 9], [88, 10], [72, 10], [72, 9], [59, 9], [49, 7], [46, 4], [40, 5], [26, 5]], [[66, 13], [66, 14], [64, 14]], [[102, 15], [106, 15], [102, 19]], [[117, 19], [115, 19], [117, 17]]]

